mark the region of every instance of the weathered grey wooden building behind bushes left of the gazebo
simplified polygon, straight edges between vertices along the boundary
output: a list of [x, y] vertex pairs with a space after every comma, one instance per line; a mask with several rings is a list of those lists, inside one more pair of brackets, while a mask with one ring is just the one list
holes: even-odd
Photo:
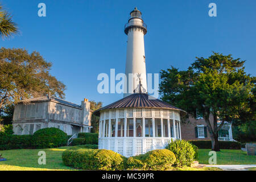
[[16, 135], [33, 134], [46, 127], [59, 128], [68, 135], [89, 133], [91, 115], [87, 99], [77, 105], [55, 97], [37, 97], [15, 105], [13, 130]]

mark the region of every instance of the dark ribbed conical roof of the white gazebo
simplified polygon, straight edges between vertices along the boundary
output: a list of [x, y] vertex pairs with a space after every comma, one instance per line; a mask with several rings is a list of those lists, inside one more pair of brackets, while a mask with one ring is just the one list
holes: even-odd
[[128, 107], [143, 107], [143, 108], [157, 108], [157, 109], [172, 109], [172, 110], [179, 110], [184, 113], [186, 111], [179, 109], [178, 107], [172, 106], [164, 101], [156, 99], [152, 96], [149, 96], [146, 93], [134, 93], [130, 96], [122, 98], [112, 104], [109, 104], [101, 109], [94, 111], [93, 114], [100, 115], [101, 110], [106, 109], [118, 109], [118, 108], [128, 108]]

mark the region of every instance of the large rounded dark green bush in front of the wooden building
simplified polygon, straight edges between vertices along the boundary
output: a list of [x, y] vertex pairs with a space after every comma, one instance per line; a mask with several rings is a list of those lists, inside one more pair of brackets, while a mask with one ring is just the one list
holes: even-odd
[[35, 148], [60, 147], [67, 144], [67, 134], [55, 127], [40, 129], [32, 137], [32, 146]]

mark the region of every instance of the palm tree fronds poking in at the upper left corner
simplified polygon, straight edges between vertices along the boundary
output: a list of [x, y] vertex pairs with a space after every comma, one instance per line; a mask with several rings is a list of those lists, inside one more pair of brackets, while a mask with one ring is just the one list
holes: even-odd
[[0, 4], [0, 37], [5, 39], [17, 32], [17, 24], [13, 22], [11, 15]]

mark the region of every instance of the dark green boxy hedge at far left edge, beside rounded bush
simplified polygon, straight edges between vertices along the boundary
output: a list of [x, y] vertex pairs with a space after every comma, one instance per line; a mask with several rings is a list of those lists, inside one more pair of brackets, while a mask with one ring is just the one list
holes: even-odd
[[31, 148], [32, 135], [2, 135], [0, 150]]

